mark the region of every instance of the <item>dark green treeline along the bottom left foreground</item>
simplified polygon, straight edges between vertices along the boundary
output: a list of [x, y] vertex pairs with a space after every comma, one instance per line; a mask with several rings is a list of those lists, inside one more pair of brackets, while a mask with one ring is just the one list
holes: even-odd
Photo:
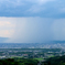
[[36, 59], [30, 58], [7, 58], [0, 59], [0, 65], [37, 65]]

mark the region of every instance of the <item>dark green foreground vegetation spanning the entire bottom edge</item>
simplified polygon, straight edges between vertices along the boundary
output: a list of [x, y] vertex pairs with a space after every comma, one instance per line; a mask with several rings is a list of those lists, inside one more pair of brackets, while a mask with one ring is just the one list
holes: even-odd
[[[42, 58], [7, 58], [0, 59], [0, 65], [39, 65]], [[65, 65], [65, 55], [55, 56], [41, 62], [41, 65]]]

